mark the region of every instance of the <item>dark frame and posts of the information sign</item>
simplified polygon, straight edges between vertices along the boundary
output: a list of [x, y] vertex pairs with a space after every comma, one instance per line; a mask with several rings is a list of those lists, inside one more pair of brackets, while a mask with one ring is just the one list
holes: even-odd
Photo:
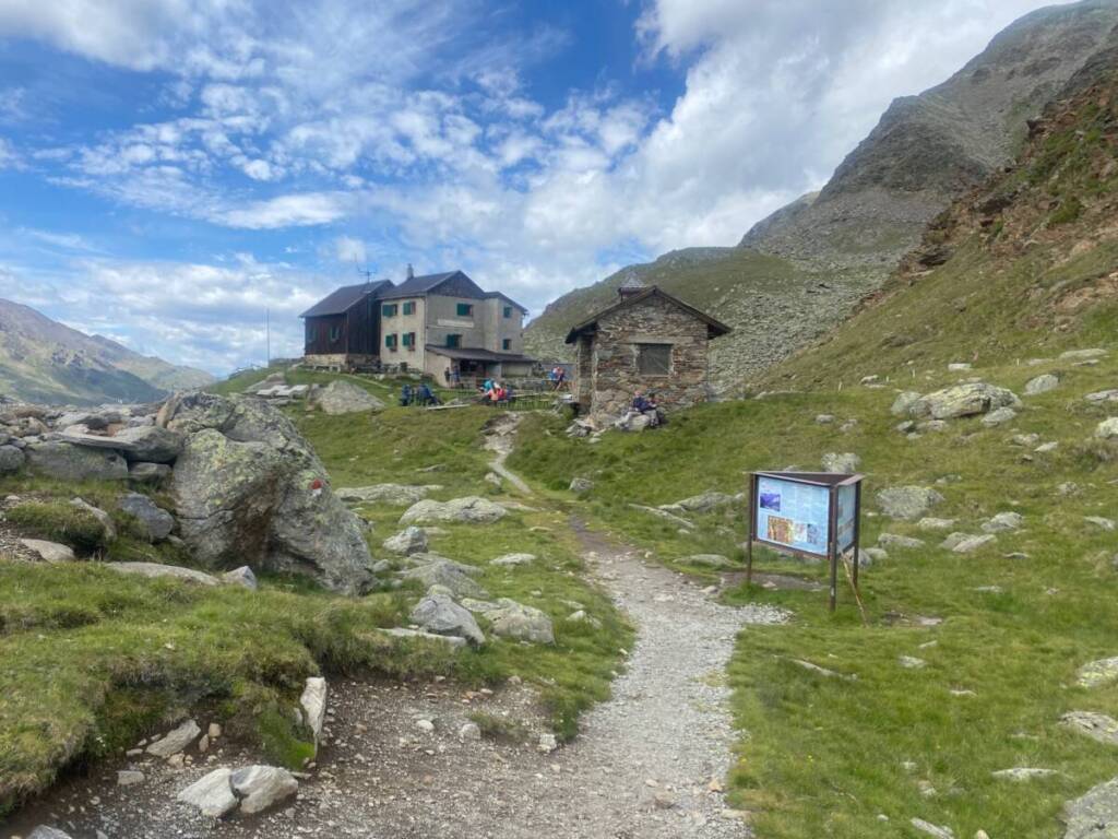
[[[771, 478], [788, 483], [802, 483], [811, 487], [822, 487], [827, 490], [827, 544], [821, 553], [800, 550], [781, 543], [762, 539], [757, 534], [757, 487], [762, 478]], [[862, 474], [841, 474], [833, 472], [750, 472], [749, 473], [749, 531], [746, 538], [746, 585], [754, 582], [754, 543], [765, 545], [773, 550], [779, 550], [793, 556], [826, 559], [831, 572], [831, 611], [835, 611], [839, 601], [839, 559], [845, 549], [839, 547], [839, 490], [843, 487], [854, 487], [854, 539], [850, 545], [854, 554], [853, 571], [851, 571], [854, 594], [858, 596], [859, 545], [862, 530]]]

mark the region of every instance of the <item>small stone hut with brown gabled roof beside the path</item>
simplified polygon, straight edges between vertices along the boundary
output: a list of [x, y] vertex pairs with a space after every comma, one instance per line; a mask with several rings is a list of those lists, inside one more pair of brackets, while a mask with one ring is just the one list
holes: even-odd
[[682, 300], [627, 280], [617, 301], [567, 334], [574, 343], [575, 400], [587, 414], [624, 413], [636, 390], [666, 408], [707, 398], [708, 343], [730, 328]]

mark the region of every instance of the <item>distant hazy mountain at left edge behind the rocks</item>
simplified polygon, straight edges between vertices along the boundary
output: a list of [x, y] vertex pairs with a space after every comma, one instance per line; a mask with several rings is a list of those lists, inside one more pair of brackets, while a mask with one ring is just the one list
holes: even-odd
[[63, 326], [30, 307], [0, 300], [0, 394], [27, 402], [152, 402], [214, 377], [141, 356], [101, 336]]

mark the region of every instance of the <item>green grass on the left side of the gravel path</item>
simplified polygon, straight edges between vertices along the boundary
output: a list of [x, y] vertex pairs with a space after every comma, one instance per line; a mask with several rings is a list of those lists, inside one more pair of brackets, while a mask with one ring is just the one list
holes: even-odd
[[[328, 417], [290, 413], [316, 446], [337, 486], [438, 482], [438, 497], [480, 492], [486, 456], [480, 450], [484, 408], [417, 414]], [[442, 464], [434, 473], [425, 466]], [[19, 475], [0, 493], [27, 499], [7, 512], [25, 535], [56, 538], [113, 562], [144, 559], [190, 565], [180, 548], [148, 545], [115, 510], [123, 488], [73, 486]], [[111, 511], [120, 531], [94, 544], [80, 496]], [[165, 498], [155, 497], [168, 505]], [[404, 508], [367, 507], [373, 556], [399, 529]], [[220, 719], [234, 737], [258, 744], [268, 760], [300, 766], [311, 753], [292, 708], [311, 675], [395, 678], [448, 676], [465, 685], [498, 684], [517, 675], [533, 685], [558, 735], [571, 737], [578, 715], [605, 699], [632, 630], [609, 598], [582, 579], [578, 545], [561, 513], [541, 507], [492, 526], [447, 526], [433, 549], [483, 568], [494, 597], [534, 605], [555, 620], [547, 649], [491, 637], [458, 653], [440, 644], [399, 641], [380, 626], [407, 624], [420, 592], [414, 585], [362, 598], [320, 591], [306, 578], [262, 574], [259, 592], [203, 588], [179, 581], [117, 574], [97, 562], [39, 565], [0, 557], [0, 814], [45, 789], [60, 769], [96, 761], [161, 730], [186, 713]], [[100, 529], [97, 530], [100, 538]], [[530, 552], [530, 566], [498, 568], [489, 560]], [[398, 564], [398, 560], [396, 560]], [[569, 623], [577, 602], [601, 628]], [[483, 629], [487, 629], [484, 620]]]

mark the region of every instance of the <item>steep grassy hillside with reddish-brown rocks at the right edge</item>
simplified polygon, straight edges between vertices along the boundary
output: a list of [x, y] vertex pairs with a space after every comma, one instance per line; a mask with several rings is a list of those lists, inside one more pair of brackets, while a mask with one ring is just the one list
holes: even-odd
[[[1027, 362], [1118, 328], [1118, 30], [1063, 86], [1015, 162], [957, 198], [849, 322], [766, 388]], [[1074, 362], [1069, 359], [1068, 365]]]

